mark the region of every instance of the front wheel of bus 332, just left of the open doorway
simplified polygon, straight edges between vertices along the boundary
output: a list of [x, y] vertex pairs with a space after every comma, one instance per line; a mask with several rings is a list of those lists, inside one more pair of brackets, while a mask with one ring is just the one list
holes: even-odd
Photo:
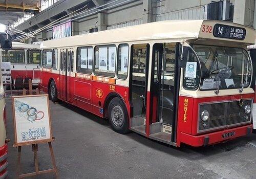
[[108, 116], [111, 126], [116, 132], [126, 133], [129, 131], [127, 111], [119, 98], [115, 97], [110, 101]]

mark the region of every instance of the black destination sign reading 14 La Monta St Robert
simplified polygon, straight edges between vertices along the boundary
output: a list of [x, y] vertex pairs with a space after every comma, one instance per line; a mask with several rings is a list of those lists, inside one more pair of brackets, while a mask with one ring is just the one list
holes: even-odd
[[216, 24], [214, 26], [214, 36], [220, 38], [230, 38], [243, 40], [246, 35], [245, 28]]

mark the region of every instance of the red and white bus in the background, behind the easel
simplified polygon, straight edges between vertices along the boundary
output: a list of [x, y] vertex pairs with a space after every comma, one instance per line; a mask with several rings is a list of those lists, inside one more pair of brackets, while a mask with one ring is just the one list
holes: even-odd
[[0, 57], [3, 62], [11, 62], [12, 79], [16, 77], [32, 78], [33, 84], [38, 84], [40, 79], [39, 53], [40, 44], [27, 44], [12, 42], [11, 49], [0, 49]]

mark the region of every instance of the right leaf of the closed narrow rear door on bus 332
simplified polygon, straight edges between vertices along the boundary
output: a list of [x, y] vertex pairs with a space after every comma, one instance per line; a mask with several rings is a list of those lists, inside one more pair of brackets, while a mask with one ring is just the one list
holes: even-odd
[[67, 72], [66, 72], [66, 100], [71, 101], [71, 76], [74, 70], [74, 49], [68, 49]]

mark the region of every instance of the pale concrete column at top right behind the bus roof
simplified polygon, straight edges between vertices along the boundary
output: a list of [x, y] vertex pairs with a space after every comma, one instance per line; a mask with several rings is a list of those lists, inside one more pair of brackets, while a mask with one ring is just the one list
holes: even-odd
[[253, 26], [255, 0], [234, 1], [233, 23]]

